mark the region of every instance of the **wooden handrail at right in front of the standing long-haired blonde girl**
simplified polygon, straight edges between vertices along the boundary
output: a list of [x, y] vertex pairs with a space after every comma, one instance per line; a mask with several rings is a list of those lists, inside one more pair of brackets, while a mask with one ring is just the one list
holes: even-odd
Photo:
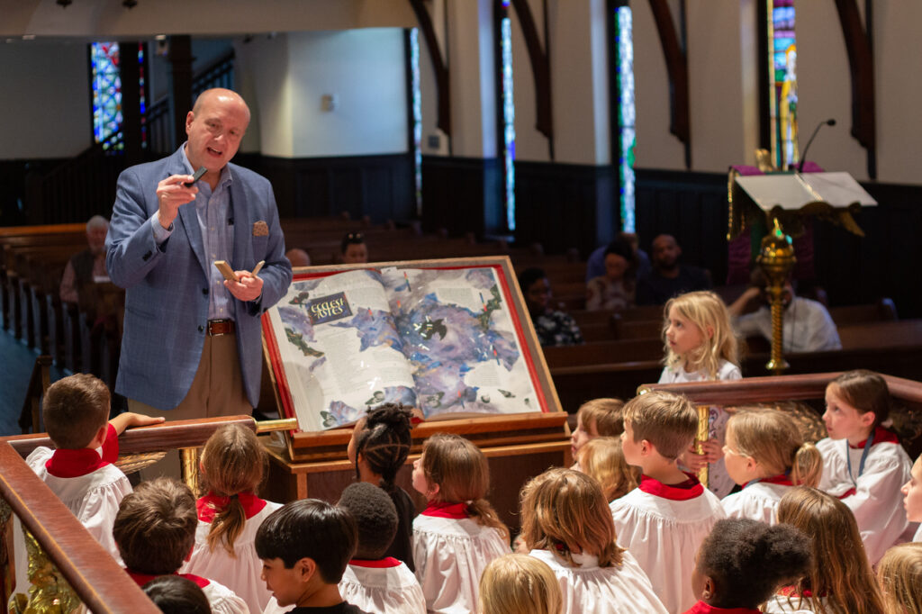
[[[747, 377], [732, 382], [691, 382], [686, 384], [644, 384], [640, 389], [666, 390], [688, 396], [698, 405], [739, 406], [778, 400], [822, 398], [826, 385], [841, 372]], [[922, 403], [922, 383], [883, 375], [891, 396], [910, 403]], [[639, 389], [639, 390], [640, 390]]]

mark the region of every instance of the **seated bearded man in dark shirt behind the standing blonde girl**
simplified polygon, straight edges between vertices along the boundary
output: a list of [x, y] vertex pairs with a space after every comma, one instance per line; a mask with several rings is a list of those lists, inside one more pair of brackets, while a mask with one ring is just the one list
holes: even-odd
[[707, 270], [680, 264], [681, 254], [682, 248], [672, 235], [661, 234], [653, 240], [653, 268], [637, 281], [638, 305], [662, 305], [686, 292], [711, 289]]

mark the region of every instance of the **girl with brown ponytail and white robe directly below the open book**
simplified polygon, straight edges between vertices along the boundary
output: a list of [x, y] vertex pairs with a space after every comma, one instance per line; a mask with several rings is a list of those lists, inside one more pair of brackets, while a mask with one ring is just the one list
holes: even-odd
[[430, 612], [473, 612], [480, 574], [508, 554], [509, 529], [484, 497], [490, 469], [477, 446], [432, 435], [413, 463], [413, 488], [428, 500], [413, 521], [413, 561]]

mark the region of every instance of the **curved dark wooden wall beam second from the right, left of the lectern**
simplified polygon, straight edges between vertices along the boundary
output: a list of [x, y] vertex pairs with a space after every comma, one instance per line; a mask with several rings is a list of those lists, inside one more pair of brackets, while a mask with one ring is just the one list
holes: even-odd
[[685, 165], [691, 169], [688, 57], [681, 46], [667, 0], [650, 0], [650, 9], [656, 20], [656, 31], [659, 33], [669, 77], [669, 133], [685, 145]]

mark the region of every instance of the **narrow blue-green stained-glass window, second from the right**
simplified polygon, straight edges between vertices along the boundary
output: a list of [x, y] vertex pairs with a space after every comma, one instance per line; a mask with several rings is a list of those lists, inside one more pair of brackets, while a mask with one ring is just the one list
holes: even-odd
[[634, 130], [634, 84], [633, 84], [633, 22], [631, 8], [619, 6], [616, 13], [617, 78], [618, 78], [618, 175], [620, 179], [619, 204], [621, 206], [621, 230], [634, 232], [634, 146], [637, 135]]

